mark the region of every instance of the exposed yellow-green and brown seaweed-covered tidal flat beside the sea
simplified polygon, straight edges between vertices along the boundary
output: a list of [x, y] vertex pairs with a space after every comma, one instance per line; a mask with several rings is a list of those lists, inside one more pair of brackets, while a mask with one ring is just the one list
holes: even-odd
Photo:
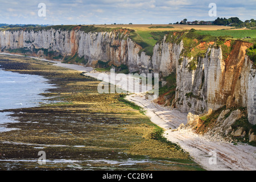
[[[20, 130], [0, 136], [1, 169], [203, 170], [188, 154], [150, 138], [158, 126], [119, 94], [98, 94], [100, 81], [26, 57], [2, 56], [1, 63], [56, 85], [44, 94], [50, 104], [9, 110], [19, 122], [7, 127]], [[46, 166], [37, 163], [38, 151], [46, 152]]]

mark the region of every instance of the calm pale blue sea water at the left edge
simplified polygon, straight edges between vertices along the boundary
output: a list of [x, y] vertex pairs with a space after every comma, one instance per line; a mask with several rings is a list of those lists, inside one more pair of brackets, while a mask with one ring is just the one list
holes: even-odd
[[[0, 111], [38, 106], [45, 99], [39, 94], [49, 88], [52, 85], [42, 76], [19, 74], [0, 68]], [[15, 122], [15, 118], [10, 118], [9, 114], [0, 112], [0, 132], [13, 130], [5, 127], [5, 123]]]

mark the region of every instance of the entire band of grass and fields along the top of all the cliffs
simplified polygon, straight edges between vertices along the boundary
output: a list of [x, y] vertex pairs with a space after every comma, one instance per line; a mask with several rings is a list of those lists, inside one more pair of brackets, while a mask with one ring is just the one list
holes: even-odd
[[[125, 27], [125, 25], [122, 25]], [[118, 39], [127, 39], [129, 37], [133, 42], [139, 44], [142, 47], [141, 52], [145, 52], [147, 55], [152, 56], [153, 48], [156, 43], [163, 40], [164, 35], [166, 36], [166, 42], [169, 43], [180, 43], [183, 40], [184, 52], [183, 56], [188, 57], [199, 57], [204, 56], [207, 51], [207, 46], [212, 44], [222, 47], [224, 52], [224, 58], [230, 51], [226, 47], [225, 42], [231, 40], [242, 39], [246, 42], [256, 43], [256, 30], [213, 30], [213, 26], [208, 26], [209, 30], [204, 30], [204, 26], [197, 26], [191, 28], [191, 30], [177, 30], [177, 27], [173, 26], [152, 26], [145, 25], [134, 26], [134, 27], [121, 27], [116, 26], [85, 26], [85, 25], [56, 25], [47, 27], [14, 27], [14, 28], [0, 28], [0, 31], [42, 31], [42, 30], [60, 30], [60, 31], [72, 31], [80, 30], [86, 33], [89, 32], [117, 32]], [[219, 26], [220, 28], [223, 28]], [[186, 27], [187, 28], [187, 27]], [[194, 29], [196, 28], [196, 29]], [[203, 28], [200, 30], [199, 28]], [[216, 28], [216, 27], [214, 27]], [[125, 36], [127, 35], [127, 36]], [[173, 35], [173, 36], [172, 36]], [[192, 50], [192, 51], [191, 51]]]

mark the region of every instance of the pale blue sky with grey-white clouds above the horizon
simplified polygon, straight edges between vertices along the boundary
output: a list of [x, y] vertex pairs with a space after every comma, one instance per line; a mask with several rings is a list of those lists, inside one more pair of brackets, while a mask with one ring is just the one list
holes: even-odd
[[[40, 3], [45, 9], [38, 6]], [[209, 16], [210, 3], [216, 4], [216, 16]], [[7, 24], [168, 24], [185, 18], [256, 19], [256, 0], [0, 0], [0, 4], [0, 23]]]

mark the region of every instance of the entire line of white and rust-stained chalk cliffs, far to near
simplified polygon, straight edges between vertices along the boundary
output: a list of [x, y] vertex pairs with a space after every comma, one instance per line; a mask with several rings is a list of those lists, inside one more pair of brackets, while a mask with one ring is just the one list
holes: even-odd
[[[22, 49], [28, 55], [75, 57], [93, 66], [98, 60], [127, 65], [129, 72], [176, 73], [176, 92], [172, 106], [195, 114], [209, 109], [247, 107], [249, 122], [256, 124], [256, 71], [245, 55], [251, 43], [237, 41], [227, 57], [221, 46], [207, 48], [204, 56], [184, 56], [184, 42], [157, 43], [153, 55], [141, 52], [125, 31], [84, 32], [72, 30], [0, 31], [3, 51]], [[230, 47], [229, 43], [225, 43]], [[200, 44], [201, 45], [201, 44]], [[199, 46], [200, 46], [199, 45]], [[202, 44], [203, 45], [203, 44]], [[24, 49], [24, 50], [23, 50]]]

